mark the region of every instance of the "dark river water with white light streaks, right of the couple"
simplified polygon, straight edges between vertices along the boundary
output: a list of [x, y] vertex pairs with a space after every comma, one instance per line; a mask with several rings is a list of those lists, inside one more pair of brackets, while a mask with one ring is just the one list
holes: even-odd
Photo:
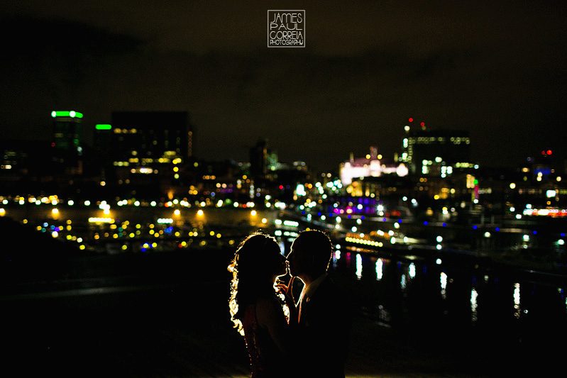
[[396, 335], [423, 348], [470, 353], [471, 363], [490, 361], [500, 372], [529, 367], [541, 373], [561, 363], [566, 277], [469, 255], [336, 247], [331, 274], [364, 316]]

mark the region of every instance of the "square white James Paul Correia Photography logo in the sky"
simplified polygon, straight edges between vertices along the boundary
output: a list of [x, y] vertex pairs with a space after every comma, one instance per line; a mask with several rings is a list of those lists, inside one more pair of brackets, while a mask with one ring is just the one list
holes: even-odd
[[305, 11], [268, 11], [268, 48], [304, 48]]

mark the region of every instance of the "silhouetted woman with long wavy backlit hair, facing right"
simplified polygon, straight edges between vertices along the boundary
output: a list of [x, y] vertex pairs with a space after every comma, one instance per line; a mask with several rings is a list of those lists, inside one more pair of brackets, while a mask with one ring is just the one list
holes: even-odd
[[229, 270], [233, 273], [231, 320], [246, 340], [252, 377], [289, 377], [293, 360], [290, 324], [297, 324], [297, 313], [295, 306], [291, 310], [285, 306], [284, 295], [278, 296], [275, 287], [275, 279], [287, 273], [280, 246], [268, 235], [249, 235]]

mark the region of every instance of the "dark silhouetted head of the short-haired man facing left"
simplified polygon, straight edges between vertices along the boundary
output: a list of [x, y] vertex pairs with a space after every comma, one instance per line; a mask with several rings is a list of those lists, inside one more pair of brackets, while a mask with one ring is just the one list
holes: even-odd
[[329, 236], [317, 230], [303, 231], [295, 238], [292, 251], [287, 255], [290, 273], [300, 278], [316, 279], [329, 267], [331, 253]]

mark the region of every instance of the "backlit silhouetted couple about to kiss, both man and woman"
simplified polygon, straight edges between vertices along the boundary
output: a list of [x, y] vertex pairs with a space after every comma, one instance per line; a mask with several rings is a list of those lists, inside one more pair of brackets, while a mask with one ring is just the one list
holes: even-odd
[[[351, 313], [327, 275], [331, 254], [331, 240], [316, 230], [299, 233], [287, 260], [268, 235], [252, 234], [238, 247], [229, 304], [253, 378], [344, 377]], [[288, 263], [289, 284], [275, 284]], [[297, 303], [296, 278], [304, 284]]]

